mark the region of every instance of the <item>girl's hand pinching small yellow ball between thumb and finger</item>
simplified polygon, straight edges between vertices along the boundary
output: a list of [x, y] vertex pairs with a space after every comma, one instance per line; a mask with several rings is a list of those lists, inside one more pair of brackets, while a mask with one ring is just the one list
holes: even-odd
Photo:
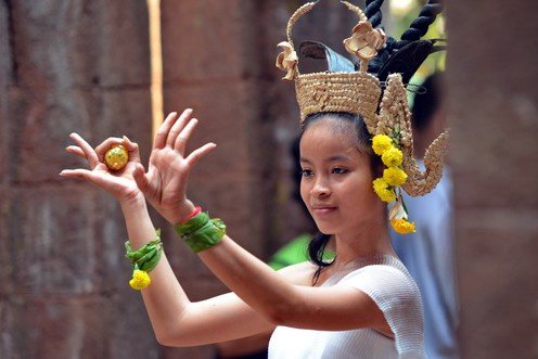
[[[76, 145], [67, 146], [66, 151], [86, 158], [90, 169], [64, 169], [60, 176], [90, 181], [111, 193], [120, 203], [143, 200], [132, 176], [138, 166], [142, 166], [138, 144], [124, 136], [123, 139], [108, 138], [93, 149], [78, 133], [72, 133], [69, 137]], [[127, 165], [118, 171], [111, 171], [103, 162], [104, 153], [114, 144], [123, 144], [129, 153]]]

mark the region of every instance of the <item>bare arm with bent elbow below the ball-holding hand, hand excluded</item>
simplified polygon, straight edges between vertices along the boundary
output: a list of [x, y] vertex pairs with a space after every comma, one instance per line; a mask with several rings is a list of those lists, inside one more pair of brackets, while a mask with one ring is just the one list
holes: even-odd
[[[148, 215], [145, 201], [123, 203], [121, 209], [133, 248], [154, 239], [155, 230]], [[141, 292], [155, 336], [163, 345], [208, 344], [248, 336], [273, 328], [234, 294], [190, 302], [165, 253], [151, 271], [151, 278], [152, 284]]]

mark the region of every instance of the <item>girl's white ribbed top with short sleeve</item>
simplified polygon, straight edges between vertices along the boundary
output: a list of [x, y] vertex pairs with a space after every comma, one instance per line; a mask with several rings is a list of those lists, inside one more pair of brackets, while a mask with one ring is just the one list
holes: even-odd
[[385, 315], [395, 337], [373, 329], [277, 326], [269, 342], [269, 359], [425, 358], [420, 292], [398, 258], [357, 258], [321, 286], [332, 285], [348, 285], [368, 294]]

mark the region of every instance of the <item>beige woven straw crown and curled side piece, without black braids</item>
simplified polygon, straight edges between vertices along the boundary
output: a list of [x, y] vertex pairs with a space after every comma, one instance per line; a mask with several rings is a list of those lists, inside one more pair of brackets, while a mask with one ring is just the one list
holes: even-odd
[[[443, 176], [443, 161], [448, 132], [441, 133], [427, 149], [424, 157], [426, 169], [422, 172], [413, 157], [411, 112], [401, 75], [389, 75], [385, 90], [382, 91], [380, 80], [368, 73], [368, 63], [382, 49], [386, 36], [382, 29], [372, 27], [358, 7], [347, 1], [342, 2], [359, 17], [359, 23], [354, 27], [351, 37], [344, 40], [346, 50], [360, 61], [358, 72], [324, 72], [304, 75], [299, 73], [298, 57], [292, 41], [292, 28], [302, 15], [316, 5], [316, 2], [306, 3], [297, 9], [287, 22], [287, 41], [279, 43], [284, 51], [279, 54], [277, 66], [287, 72], [285, 79], [295, 80], [300, 124], [308, 115], [320, 112], [343, 112], [360, 115], [372, 138], [376, 134], [386, 134], [394, 142], [395, 149], [401, 151], [402, 163], [398, 168], [401, 167], [407, 175], [407, 180], [401, 184], [401, 188], [413, 196], [426, 194], [437, 185]], [[383, 98], [380, 104], [382, 93]], [[393, 172], [395, 171], [393, 170]], [[374, 188], [387, 194], [386, 191], [390, 187], [383, 179], [381, 180], [374, 183]], [[394, 193], [394, 196], [386, 195], [385, 198], [394, 198], [395, 196], [400, 197], [399, 194]]]

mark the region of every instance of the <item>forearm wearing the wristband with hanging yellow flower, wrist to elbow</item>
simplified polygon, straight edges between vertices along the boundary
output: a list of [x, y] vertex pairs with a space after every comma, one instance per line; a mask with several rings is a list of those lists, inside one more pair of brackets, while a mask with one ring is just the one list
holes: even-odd
[[[121, 210], [133, 249], [155, 239], [155, 228], [143, 197], [121, 203]], [[150, 272], [150, 277], [152, 283], [141, 292], [157, 341], [163, 342], [176, 332], [190, 300], [171, 270], [165, 253]]]

